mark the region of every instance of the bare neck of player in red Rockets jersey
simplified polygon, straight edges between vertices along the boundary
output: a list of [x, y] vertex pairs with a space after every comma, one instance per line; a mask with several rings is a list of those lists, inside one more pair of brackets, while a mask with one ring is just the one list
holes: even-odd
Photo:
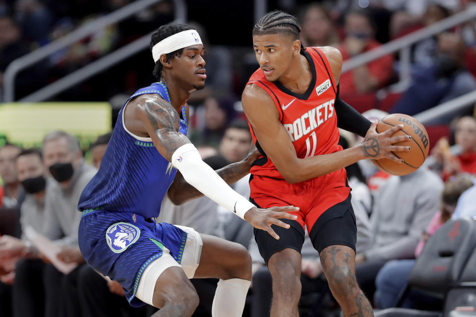
[[299, 54], [296, 60], [291, 63], [289, 70], [279, 77], [279, 82], [283, 86], [297, 94], [305, 93], [311, 81], [311, 67], [302, 54]]

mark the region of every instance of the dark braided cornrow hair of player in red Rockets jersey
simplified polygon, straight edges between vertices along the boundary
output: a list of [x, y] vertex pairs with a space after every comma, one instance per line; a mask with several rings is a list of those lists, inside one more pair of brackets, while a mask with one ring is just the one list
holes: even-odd
[[[253, 35], [264, 34], [286, 34], [291, 35], [295, 40], [299, 39], [301, 27], [297, 22], [297, 18], [283, 11], [272, 11], [259, 19], [253, 27]], [[301, 44], [301, 50], [304, 47]]]

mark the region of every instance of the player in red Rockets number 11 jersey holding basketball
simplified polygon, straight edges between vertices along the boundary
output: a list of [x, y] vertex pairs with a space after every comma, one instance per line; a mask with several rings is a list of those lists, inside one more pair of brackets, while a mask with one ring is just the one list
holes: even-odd
[[[262, 156], [250, 170], [250, 200], [260, 208], [300, 207], [297, 220], [279, 240], [254, 230], [261, 256], [273, 277], [271, 317], [298, 317], [300, 250], [306, 225], [319, 252], [330, 289], [344, 316], [373, 316], [355, 277], [356, 218], [345, 166], [360, 159], [389, 158], [409, 148], [395, 145], [402, 128], [376, 133], [371, 123], [339, 99], [342, 55], [334, 48], [303, 48], [296, 18], [275, 11], [253, 28], [260, 68], [251, 76], [242, 104]], [[365, 137], [342, 150], [339, 130]]]

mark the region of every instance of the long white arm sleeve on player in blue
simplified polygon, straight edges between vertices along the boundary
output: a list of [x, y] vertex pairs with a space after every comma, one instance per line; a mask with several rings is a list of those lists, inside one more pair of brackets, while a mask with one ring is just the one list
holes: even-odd
[[191, 143], [179, 147], [172, 155], [172, 165], [187, 183], [223, 208], [235, 212], [244, 219], [246, 211], [255, 207], [235, 192], [218, 174], [205, 163]]

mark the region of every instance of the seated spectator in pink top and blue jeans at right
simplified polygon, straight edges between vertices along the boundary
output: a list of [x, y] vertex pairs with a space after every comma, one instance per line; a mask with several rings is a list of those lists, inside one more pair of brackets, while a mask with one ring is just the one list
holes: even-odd
[[[468, 188], [473, 186], [473, 182], [464, 176], [460, 176], [452, 181], [447, 181], [441, 194], [440, 211], [435, 213], [430, 224], [423, 231], [420, 242], [415, 249], [417, 258], [426, 241], [451, 217], [455, 211], [458, 198]], [[375, 280], [375, 307], [386, 309], [394, 307], [398, 297], [402, 294], [407, 285], [408, 277], [415, 264], [415, 260], [392, 260], [387, 262], [378, 272]], [[441, 306], [441, 300], [412, 290], [400, 307], [420, 310], [434, 310]]]

